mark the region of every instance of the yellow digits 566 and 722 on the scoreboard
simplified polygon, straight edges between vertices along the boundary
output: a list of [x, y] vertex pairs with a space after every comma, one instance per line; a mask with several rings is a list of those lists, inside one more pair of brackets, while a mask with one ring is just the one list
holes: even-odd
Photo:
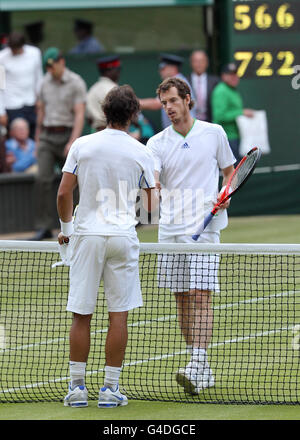
[[[239, 63], [239, 76], [291, 76], [294, 74], [296, 59], [299, 59], [300, 4], [299, 2], [234, 2], [233, 28], [237, 38], [241, 35], [258, 34], [262, 39], [259, 47], [235, 50], [234, 59]], [[283, 47], [265, 46], [263, 40], [270, 34], [278, 41], [286, 34], [295, 40]], [[298, 37], [299, 38], [299, 37]], [[298, 43], [298, 44], [297, 44]]]

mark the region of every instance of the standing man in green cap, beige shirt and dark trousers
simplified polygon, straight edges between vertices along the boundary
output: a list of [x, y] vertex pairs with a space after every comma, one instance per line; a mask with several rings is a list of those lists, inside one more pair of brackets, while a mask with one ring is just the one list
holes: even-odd
[[63, 165], [72, 143], [82, 133], [86, 101], [85, 82], [66, 67], [58, 48], [46, 50], [44, 64], [47, 73], [37, 104], [37, 233], [32, 240], [52, 237], [54, 166]]

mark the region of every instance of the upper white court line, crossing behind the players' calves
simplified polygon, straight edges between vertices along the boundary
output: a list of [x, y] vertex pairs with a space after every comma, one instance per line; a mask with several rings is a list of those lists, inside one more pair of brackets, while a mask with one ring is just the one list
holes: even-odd
[[[300, 290], [291, 290], [289, 292], [281, 292], [281, 293], [274, 293], [272, 295], [268, 295], [268, 296], [263, 296], [260, 298], [251, 298], [251, 299], [246, 299], [243, 301], [238, 301], [236, 303], [231, 303], [231, 304], [221, 304], [219, 306], [214, 306], [213, 310], [224, 310], [224, 309], [229, 309], [229, 308], [233, 308], [233, 307], [238, 307], [241, 304], [255, 304], [258, 302], [262, 302], [262, 301], [269, 301], [272, 298], [278, 298], [278, 297], [284, 297], [284, 296], [289, 296], [289, 295], [295, 295], [297, 293], [299, 293]], [[128, 328], [130, 327], [141, 327], [141, 326], [145, 326], [148, 324], [153, 324], [154, 322], [164, 322], [164, 321], [171, 321], [173, 319], [176, 319], [177, 315], [166, 315], [166, 316], [162, 316], [159, 318], [155, 318], [155, 319], [151, 319], [151, 320], [146, 320], [146, 321], [138, 321], [138, 322], [134, 322], [134, 323], [129, 323], [128, 324]], [[91, 332], [91, 336], [95, 336], [98, 333], [107, 333], [108, 332], [108, 328], [104, 328], [104, 329], [100, 329], [100, 330], [96, 330], [94, 332]], [[59, 342], [65, 342], [67, 340], [67, 338], [56, 338], [56, 339], [47, 339], [45, 341], [41, 341], [41, 342], [35, 342], [32, 344], [26, 344], [26, 345], [20, 345], [18, 347], [10, 347], [10, 348], [6, 348], [4, 349], [0, 349], [0, 354], [4, 353], [4, 352], [8, 352], [8, 351], [18, 351], [18, 350], [28, 350], [30, 348], [36, 348], [36, 347], [40, 347], [42, 345], [48, 345], [48, 344], [57, 344]]]

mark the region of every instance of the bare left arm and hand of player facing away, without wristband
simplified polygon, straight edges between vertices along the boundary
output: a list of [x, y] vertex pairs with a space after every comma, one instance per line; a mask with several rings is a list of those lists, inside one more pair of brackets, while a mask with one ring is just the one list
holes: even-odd
[[[75, 174], [63, 173], [57, 192], [57, 212], [63, 223], [72, 222], [73, 213], [73, 191], [77, 186], [77, 177]], [[63, 244], [68, 240], [68, 234], [60, 232], [58, 235], [59, 244]]]

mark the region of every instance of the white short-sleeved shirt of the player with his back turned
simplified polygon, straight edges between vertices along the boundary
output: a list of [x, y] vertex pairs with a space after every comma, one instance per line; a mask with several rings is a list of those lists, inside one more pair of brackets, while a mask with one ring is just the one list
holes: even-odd
[[136, 235], [139, 188], [154, 188], [151, 151], [124, 131], [106, 128], [78, 138], [63, 172], [77, 175], [76, 235]]

